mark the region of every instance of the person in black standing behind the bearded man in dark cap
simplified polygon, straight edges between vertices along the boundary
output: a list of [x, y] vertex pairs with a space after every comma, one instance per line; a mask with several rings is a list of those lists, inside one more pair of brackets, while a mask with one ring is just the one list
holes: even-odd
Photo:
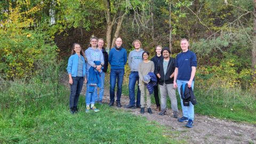
[[[159, 61], [161, 59], [163, 59], [163, 55], [161, 54], [161, 51], [162, 51], [162, 45], [157, 45], [156, 46], [156, 55], [151, 59], [151, 61], [154, 62], [155, 70], [157, 69], [157, 65], [158, 65]], [[157, 81], [158, 81], [158, 77], [157, 77]], [[158, 96], [158, 85], [154, 86], [154, 97], [155, 97], [155, 101], [156, 101], [156, 109], [155, 110], [160, 111], [161, 107], [160, 107], [159, 96]]]

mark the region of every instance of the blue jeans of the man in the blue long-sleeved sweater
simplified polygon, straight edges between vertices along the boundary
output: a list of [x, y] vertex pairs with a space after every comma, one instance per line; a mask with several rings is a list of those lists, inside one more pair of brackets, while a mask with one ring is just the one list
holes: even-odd
[[110, 70], [110, 102], [115, 101], [115, 86], [117, 79], [117, 100], [120, 101], [122, 94], [122, 85], [124, 78], [124, 69], [111, 69]]

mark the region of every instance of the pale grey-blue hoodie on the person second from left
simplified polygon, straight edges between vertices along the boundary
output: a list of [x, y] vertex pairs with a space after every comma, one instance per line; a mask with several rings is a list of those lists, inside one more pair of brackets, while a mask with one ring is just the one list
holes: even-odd
[[95, 65], [94, 61], [100, 61], [101, 65], [104, 65], [102, 51], [100, 51], [98, 48], [94, 50], [92, 47], [89, 47], [87, 50], [85, 50], [85, 57], [87, 58], [87, 72], [89, 72], [89, 69]]

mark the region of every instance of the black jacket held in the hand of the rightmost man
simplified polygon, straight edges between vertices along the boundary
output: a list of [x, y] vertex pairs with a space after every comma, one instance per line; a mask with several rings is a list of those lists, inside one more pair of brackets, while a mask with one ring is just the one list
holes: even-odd
[[183, 106], [189, 106], [189, 101], [196, 105], [196, 97], [192, 88], [188, 88], [188, 84], [185, 84], [185, 89], [183, 90], [183, 84], [180, 86], [180, 95], [183, 100]]

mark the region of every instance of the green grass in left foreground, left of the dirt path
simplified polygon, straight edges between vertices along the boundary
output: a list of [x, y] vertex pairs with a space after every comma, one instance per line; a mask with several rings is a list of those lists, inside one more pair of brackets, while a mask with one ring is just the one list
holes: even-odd
[[[185, 142], [175, 140], [179, 133], [122, 109], [97, 105], [98, 113], [85, 113], [84, 97], [79, 99], [79, 113], [71, 115], [65, 86], [38, 79], [7, 85], [0, 92], [0, 143]], [[59, 92], [54, 92], [57, 87]]]

